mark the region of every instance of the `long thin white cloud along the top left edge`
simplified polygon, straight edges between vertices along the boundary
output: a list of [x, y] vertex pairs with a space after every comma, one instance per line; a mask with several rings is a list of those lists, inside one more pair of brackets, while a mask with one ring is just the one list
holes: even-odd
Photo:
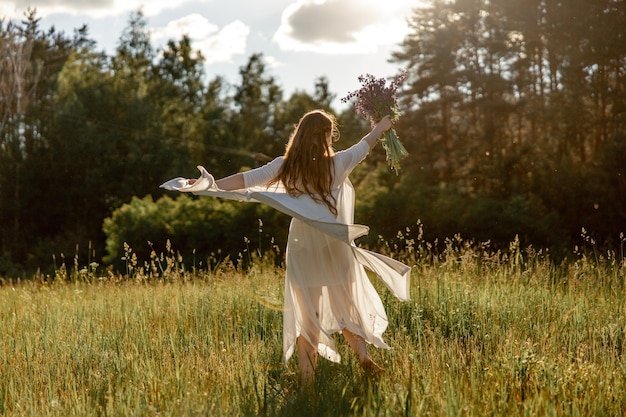
[[145, 16], [156, 16], [164, 10], [173, 10], [186, 3], [207, 3], [212, 0], [14, 0], [1, 1], [2, 16], [19, 19], [28, 8], [36, 8], [37, 16], [53, 14], [82, 15], [104, 18], [127, 14], [142, 9]]

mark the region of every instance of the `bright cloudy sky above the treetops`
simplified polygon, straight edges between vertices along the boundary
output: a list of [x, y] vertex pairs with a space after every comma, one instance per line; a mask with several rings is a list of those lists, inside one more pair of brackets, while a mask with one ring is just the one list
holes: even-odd
[[339, 98], [358, 89], [360, 74], [393, 77], [389, 62], [409, 33], [420, 0], [0, 0], [0, 16], [22, 19], [36, 8], [41, 28], [71, 36], [87, 25], [97, 49], [113, 54], [130, 14], [142, 10], [155, 48], [186, 34], [206, 58], [209, 79], [231, 84], [250, 55], [262, 53], [288, 98], [313, 93], [325, 76]]

